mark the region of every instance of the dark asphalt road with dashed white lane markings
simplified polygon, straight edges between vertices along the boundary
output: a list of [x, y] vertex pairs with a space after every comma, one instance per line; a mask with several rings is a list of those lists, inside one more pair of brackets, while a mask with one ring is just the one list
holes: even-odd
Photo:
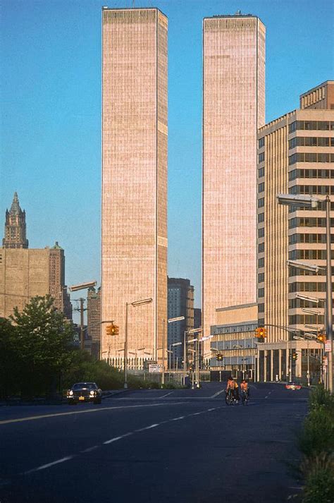
[[299, 492], [307, 389], [223, 383], [125, 392], [101, 405], [0, 408], [0, 503], [281, 503]]

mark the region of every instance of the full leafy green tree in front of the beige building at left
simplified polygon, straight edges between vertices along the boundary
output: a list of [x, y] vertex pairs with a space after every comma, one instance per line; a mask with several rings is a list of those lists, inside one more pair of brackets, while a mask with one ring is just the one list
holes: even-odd
[[22, 312], [14, 310], [16, 356], [24, 396], [55, 391], [61, 371], [70, 364], [73, 325], [54, 307], [51, 296], [36, 296]]

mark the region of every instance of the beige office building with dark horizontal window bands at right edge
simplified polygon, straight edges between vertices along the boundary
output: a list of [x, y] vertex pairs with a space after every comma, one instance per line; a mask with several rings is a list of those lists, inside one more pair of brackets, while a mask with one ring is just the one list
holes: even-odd
[[[288, 373], [289, 353], [291, 356], [298, 344], [304, 344], [301, 351], [307, 344], [290, 341], [287, 347], [280, 342], [292, 337], [284, 327], [307, 332], [305, 325], [318, 327], [319, 331], [324, 325], [325, 271], [314, 274], [288, 268], [287, 260], [326, 267], [325, 207], [321, 203], [316, 210], [296, 210], [278, 205], [276, 195], [307, 194], [319, 199], [334, 195], [333, 90], [333, 81], [314, 87], [300, 97], [302, 109], [259, 129], [257, 286], [259, 325], [267, 327], [268, 334], [266, 344], [261, 346], [259, 372], [265, 380]], [[296, 298], [297, 294], [321, 301], [317, 306]], [[315, 308], [317, 316], [303, 310]], [[320, 354], [319, 344], [310, 341], [309, 348]], [[302, 358], [296, 372], [302, 372]]]

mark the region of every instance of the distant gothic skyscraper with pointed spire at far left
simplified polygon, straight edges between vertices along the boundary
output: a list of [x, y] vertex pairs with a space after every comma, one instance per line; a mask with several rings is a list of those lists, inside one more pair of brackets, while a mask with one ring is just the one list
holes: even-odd
[[4, 248], [28, 248], [25, 228], [25, 210], [21, 210], [18, 194], [15, 192], [11, 210], [6, 210]]

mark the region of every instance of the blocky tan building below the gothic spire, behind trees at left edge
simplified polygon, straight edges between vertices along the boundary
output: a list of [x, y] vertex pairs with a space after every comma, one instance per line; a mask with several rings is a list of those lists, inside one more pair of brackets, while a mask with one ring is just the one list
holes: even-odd
[[54, 305], [72, 319], [72, 305], [64, 284], [63, 248], [0, 248], [0, 317], [15, 307], [23, 310], [30, 298], [50, 294]]

